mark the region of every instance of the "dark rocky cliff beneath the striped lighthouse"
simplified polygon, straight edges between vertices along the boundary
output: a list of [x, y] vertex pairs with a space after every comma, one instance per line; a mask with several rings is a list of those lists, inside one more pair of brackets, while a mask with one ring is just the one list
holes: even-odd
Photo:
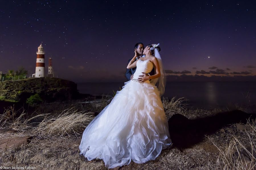
[[23, 102], [34, 94], [39, 94], [46, 101], [56, 101], [75, 99], [79, 93], [77, 84], [74, 82], [54, 77], [0, 82], [0, 99], [2, 100]]

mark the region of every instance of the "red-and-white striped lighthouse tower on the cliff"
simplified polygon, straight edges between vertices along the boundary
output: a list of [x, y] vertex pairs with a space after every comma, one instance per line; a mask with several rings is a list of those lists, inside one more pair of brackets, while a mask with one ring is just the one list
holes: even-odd
[[34, 74], [34, 77], [44, 77], [44, 48], [42, 44], [38, 47], [38, 50], [36, 52], [36, 73]]

